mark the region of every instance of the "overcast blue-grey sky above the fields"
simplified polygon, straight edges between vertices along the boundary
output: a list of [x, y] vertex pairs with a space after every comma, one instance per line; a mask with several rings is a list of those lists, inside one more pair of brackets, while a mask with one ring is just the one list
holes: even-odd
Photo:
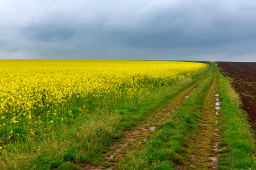
[[256, 1], [0, 0], [0, 59], [256, 62]]

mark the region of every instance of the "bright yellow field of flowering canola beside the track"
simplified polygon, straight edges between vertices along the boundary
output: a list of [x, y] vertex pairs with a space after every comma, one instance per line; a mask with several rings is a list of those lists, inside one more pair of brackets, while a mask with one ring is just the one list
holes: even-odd
[[139, 100], [152, 88], [168, 86], [205, 67], [174, 61], [2, 60], [0, 127], [27, 127], [34, 135], [33, 126], [57, 126], [100, 103]]

